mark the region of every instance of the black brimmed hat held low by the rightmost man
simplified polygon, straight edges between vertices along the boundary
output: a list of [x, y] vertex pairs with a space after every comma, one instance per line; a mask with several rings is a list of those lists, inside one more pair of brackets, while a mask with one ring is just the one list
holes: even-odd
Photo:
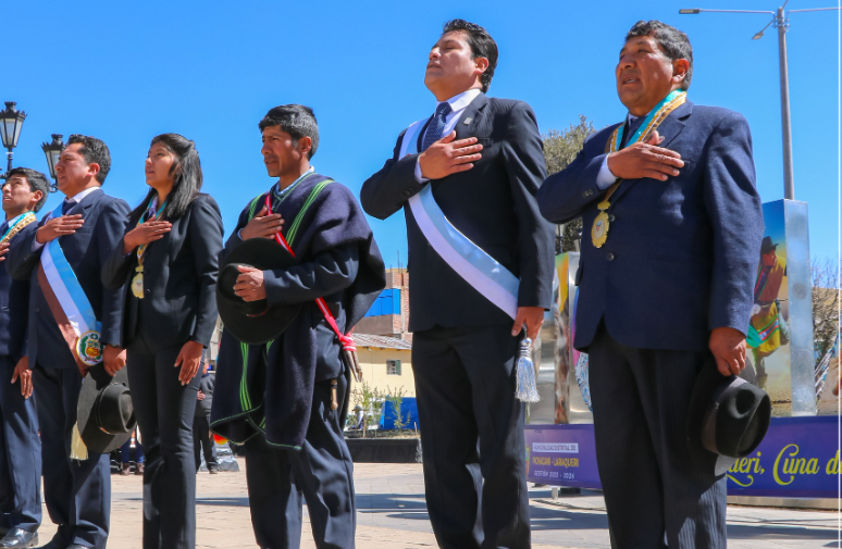
[[725, 474], [738, 459], [751, 454], [769, 429], [771, 400], [755, 385], [752, 366], [740, 376], [723, 376], [709, 355], [690, 400], [688, 444], [696, 467]]

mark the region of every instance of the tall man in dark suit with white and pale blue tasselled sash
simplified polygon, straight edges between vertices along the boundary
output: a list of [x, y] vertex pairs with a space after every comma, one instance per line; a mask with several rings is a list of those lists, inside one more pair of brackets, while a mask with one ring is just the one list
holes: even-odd
[[[517, 336], [525, 326], [534, 338], [550, 305], [553, 226], [535, 201], [546, 167], [532, 109], [485, 96], [496, 63], [484, 28], [445, 24], [424, 77], [435, 114], [398, 137], [360, 195], [374, 217], [406, 213], [426, 503], [446, 548], [530, 545], [513, 369]], [[445, 223], [470, 240], [462, 245], [490, 265], [479, 276], [469, 273], [473, 260], [432, 247], [435, 235], [423, 232], [429, 225], [413, 205], [430, 192]], [[482, 286], [495, 272], [513, 285]]]

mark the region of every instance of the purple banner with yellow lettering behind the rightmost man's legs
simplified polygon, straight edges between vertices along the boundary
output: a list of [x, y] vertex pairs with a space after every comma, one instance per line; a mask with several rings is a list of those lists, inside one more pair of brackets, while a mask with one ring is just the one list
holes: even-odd
[[[600, 488], [594, 426], [527, 425], [530, 482]], [[728, 471], [730, 496], [837, 498], [839, 417], [773, 417], [769, 432], [748, 457]]]

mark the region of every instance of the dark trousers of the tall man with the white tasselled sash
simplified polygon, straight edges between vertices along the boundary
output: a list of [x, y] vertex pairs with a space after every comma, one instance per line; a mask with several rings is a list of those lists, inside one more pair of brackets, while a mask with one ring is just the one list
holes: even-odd
[[413, 335], [426, 507], [444, 549], [530, 547], [517, 349], [511, 326]]

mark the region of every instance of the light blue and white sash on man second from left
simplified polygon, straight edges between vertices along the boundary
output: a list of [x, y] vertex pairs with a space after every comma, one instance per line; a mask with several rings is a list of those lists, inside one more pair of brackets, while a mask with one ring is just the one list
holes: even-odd
[[[50, 213], [49, 219], [60, 216], [61, 205]], [[41, 251], [41, 267], [76, 336], [82, 336], [88, 332], [99, 334], [101, 324], [97, 321], [94, 308], [78, 278], [76, 278], [76, 273], [73, 272], [67, 258], [64, 257], [58, 238], [45, 245]]]

